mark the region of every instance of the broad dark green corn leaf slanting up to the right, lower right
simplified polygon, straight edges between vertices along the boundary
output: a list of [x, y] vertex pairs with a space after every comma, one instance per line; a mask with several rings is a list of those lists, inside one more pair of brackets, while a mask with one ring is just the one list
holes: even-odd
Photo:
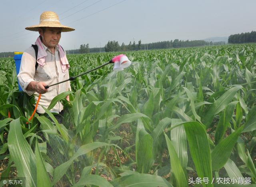
[[244, 125], [234, 131], [228, 137], [220, 141], [218, 145], [212, 151], [212, 170], [218, 170], [222, 168], [230, 157], [240, 133], [242, 132]]

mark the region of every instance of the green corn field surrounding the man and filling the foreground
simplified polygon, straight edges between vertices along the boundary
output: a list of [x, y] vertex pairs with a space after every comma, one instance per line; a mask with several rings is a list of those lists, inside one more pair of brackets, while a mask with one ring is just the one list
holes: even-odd
[[[70, 76], [117, 53], [69, 55]], [[1, 180], [26, 186], [256, 186], [256, 45], [127, 52], [71, 82], [46, 114], [0, 59]], [[70, 95], [70, 102], [66, 101]], [[50, 109], [64, 104], [63, 124]], [[1, 181], [2, 185], [2, 181]]]

